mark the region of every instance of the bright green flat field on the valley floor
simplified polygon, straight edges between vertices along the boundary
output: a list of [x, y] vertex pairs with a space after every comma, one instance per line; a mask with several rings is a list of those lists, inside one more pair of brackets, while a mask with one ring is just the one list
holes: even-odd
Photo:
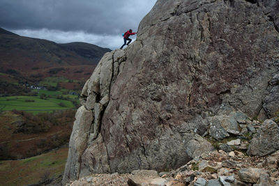
[[0, 111], [13, 109], [28, 111], [33, 114], [51, 112], [55, 110], [74, 109], [72, 102], [56, 98], [40, 99], [38, 96], [10, 96], [0, 98]]

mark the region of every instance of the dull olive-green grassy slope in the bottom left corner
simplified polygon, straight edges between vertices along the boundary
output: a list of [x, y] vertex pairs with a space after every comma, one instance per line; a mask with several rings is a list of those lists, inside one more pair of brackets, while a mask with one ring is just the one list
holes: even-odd
[[68, 148], [60, 148], [23, 160], [0, 162], [0, 185], [16, 186], [38, 183], [63, 174]]

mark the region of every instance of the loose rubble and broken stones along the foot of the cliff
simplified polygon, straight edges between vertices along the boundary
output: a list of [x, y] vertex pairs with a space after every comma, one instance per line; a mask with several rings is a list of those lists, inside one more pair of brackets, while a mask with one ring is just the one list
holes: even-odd
[[[81, 185], [167, 185], [236, 186], [279, 185], [278, 152], [268, 157], [249, 157], [239, 151], [202, 153], [179, 169], [169, 172], [137, 170], [132, 173], [91, 174], [68, 184]], [[228, 164], [234, 166], [227, 166]], [[130, 184], [132, 185], [132, 184]]]

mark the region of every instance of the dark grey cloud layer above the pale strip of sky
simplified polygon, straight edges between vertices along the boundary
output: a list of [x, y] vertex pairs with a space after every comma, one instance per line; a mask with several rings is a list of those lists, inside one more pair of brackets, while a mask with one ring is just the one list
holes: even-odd
[[0, 26], [116, 35], [137, 30], [156, 0], [1, 0]]

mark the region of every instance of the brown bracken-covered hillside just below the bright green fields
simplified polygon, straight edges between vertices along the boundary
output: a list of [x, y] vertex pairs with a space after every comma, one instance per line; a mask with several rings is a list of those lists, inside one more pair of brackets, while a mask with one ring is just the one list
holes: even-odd
[[74, 110], [41, 113], [0, 112], [0, 161], [18, 160], [68, 144]]

